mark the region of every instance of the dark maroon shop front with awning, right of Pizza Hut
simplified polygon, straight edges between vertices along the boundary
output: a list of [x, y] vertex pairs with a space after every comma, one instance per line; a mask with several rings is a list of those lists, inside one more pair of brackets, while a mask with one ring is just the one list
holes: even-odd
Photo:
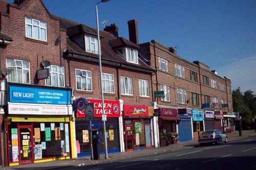
[[[160, 116], [158, 117], [158, 127], [160, 140], [163, 137], [167, 138], [167, 144], [178, 142], [178, 128], [180, 122], [178, 117], [178, 109], [160, 107]], [[161, 142], [160, 142], [161, 143]]]

